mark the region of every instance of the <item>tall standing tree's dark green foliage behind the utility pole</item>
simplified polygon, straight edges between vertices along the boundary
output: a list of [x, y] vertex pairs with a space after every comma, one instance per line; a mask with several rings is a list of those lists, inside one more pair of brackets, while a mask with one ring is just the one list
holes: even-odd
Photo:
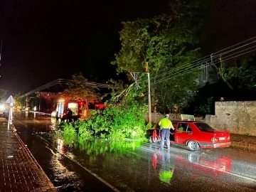
[[[196, 79], [201, 72], [192, 72], [193, 65], [189, 63], [200, 57], [195, 45], [201, 38], [201, 28], [210, 13], [211, 3], [176, 1], [170, 4], [169, 15], [122, 22], [122, 48], [112, 64], [117, 65], [117, 73], [129, 73], [145, 72], [144, 66], [149, 63], [151, 89], [155, 92], [153, 106], [182, 108], [191, 99], [189, 92], [198, 87]], [[166, 74], [159, 76], [162, 73]], [[141, 92], [146, 93], [145, 82], [142, 80], [139, 85], [144, 87]]]

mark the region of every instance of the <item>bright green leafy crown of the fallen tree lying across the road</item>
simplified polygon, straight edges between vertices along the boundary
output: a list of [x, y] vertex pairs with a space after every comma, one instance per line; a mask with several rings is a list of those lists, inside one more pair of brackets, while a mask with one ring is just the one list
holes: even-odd
[[92, 118], [75, 124], [64, 123], [64, 135], [75, 135], [81, 140], [94, 137], [102, 139], [122, 140], [144, 137], [146, 125], [144, 120], [145, 107], [130, 100], [123, 105], [108, 103], [103, 111], [92, 111]]

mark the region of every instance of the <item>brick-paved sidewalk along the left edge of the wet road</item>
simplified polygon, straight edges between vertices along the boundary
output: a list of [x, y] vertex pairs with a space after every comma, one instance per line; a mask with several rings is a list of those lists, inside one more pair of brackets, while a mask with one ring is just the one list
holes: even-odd
[[57, 191], [31, 152], [0, 118], [0, 191]]

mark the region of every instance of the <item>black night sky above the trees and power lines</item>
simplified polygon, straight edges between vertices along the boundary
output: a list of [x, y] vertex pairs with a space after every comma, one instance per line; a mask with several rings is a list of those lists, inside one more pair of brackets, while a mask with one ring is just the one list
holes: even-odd
[[[151, 2], [151, 3], [150, 3]], [[167, 0], [1, 0], [0, 88], [30, 91], [82, 72], [106, 82], [120, 48], [121, 21], [167, 11]], [[208, 23], [205, 53], [255, 35], [255, 0], [218, 0]]]

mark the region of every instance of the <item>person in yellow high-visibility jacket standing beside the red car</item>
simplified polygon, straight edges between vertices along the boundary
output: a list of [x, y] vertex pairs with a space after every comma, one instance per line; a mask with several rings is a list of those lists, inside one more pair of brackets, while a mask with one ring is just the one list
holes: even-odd
[[160, 150], [164, 149], [164, 139], [166, 139], [167, 148], [170, 149], [170, 129], [174, 129], [173, 124], [169, 119], [169, 114], [166, 114], [159, 122], [161, 128], [161, 146]]

